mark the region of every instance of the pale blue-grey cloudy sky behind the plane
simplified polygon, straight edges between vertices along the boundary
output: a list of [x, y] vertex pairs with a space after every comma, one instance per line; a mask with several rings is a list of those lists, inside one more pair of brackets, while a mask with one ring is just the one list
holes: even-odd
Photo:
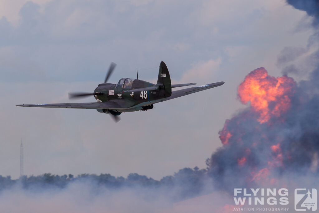
[[[205, 168], [225, 120], [245, 107], [238, 85], [261, 66], [281, 76], [280, 52], [306, 48], [313, 34], [305, 23], [284, 0], [0, 0], [0, 175], [19, 177], [21, 139], [26, 175], [160, 179]], [[111, 83], [135, 78], [136, 67], [155, 83], [158, 68], [148, 68], [161, 61], [172, 83], [226, 83], [122, 113], [119, 123], [96, 110], [15, 106], [72, 102], [68, 93], [92, 92], [112, 61]]]

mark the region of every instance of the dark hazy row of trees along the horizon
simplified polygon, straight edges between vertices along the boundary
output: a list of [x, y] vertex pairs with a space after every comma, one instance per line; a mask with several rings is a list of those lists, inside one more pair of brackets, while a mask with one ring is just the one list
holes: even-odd
[[[126, 178], [115, 177], [106, 173], [100, 175], [80, 174], [78, 176], [45, 173], [38, 176], [22, 176], [19, 179], [11, 179], [10, 176], [3, 177], [0, 175], [0, 193], [14, 186], [20, 186], [24, 190], [44, 192], [50, 189], [64, 189], [71, 183], [90, 183], [91, 186], [97, 186], [95, 187], [97, 192], [102, 188], [117, 190], [139, 187], [140, 189], [155, 189], [161, 193], [171, 194], [178, 200], [199, 195], [208, 179], [207, 170], [200, 170], [198, 167], [181, 169], [174, 175], [165, 176], [160, 180], [137, 173], [130, 173]], [[172, 193], [173, 190], [174, 193]]]

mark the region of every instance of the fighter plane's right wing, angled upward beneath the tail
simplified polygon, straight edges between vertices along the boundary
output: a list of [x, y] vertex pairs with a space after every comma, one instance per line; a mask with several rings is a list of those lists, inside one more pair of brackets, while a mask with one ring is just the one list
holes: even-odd
[[202, 85], [202, 86], [190, 87], [190, 88], [186, 88], [186, 89], [176, 90], [176, 91], [172, 92], [171, 96], [169, 96], [167, 98], [162, 98], [162, 99], [159, 99], [159, 100], [151, 101], [151, 103], [159, 103], [159, 102], [162, 102], [162, 101], [171, 100], [173, 98], [182, 97], [184, 95], [189, 95], [189, 94], [192, 94], [192, 93], [200, 92], [200, 91], [203, 91], [203, 90], [206, 90], [206, 89], [210, 89], [210, 88], [213, 88], [213, 87], [219, 87], [219, 86], [223, 85], [224, 83], [225, 83], [224, 81], [220, 81], [220, 82], [217, 82], [217, 83], [205, 84], [205, 85]]

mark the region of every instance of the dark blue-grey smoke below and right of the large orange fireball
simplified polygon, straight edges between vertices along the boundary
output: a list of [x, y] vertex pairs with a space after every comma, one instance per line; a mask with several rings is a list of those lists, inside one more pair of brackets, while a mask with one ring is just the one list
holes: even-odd
[[252, 107], [243, 110], [219, 133], [227, 142], [212, 154], [209, 167], [219, 186], [232, 191], [276, 184], [288, 174], [318, 177], [319, 95], [295, 86], [289, 110], [264, 123], [258, 116]]

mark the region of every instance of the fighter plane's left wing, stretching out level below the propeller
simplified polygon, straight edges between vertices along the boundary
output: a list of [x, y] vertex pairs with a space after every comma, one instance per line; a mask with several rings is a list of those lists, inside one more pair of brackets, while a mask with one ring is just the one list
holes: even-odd
[[121, 105], [112, 101], [94, 103], [44, 103], [44, 104], [18, 104], [22, 107], [46, 108], [73, 108], [73, 109], [121, 109]]

